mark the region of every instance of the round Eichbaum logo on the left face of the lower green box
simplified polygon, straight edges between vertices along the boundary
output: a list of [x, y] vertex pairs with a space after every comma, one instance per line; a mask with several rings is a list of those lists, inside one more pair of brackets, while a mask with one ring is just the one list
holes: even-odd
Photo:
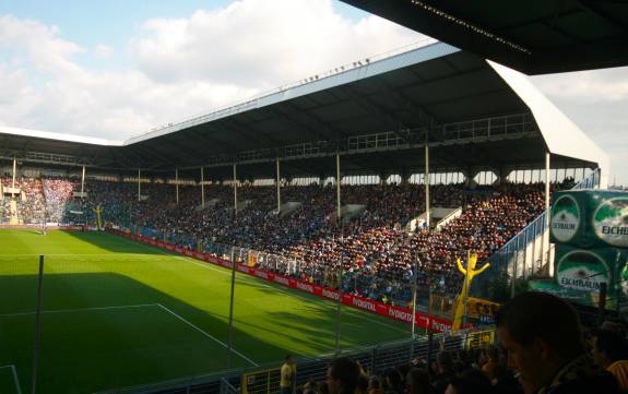
[[558, 262], [558, 284], [584, 291], [600, 291], [603, 283], [611, 282], [611, 271], [597, 254], [577, 250], [565, 254]]

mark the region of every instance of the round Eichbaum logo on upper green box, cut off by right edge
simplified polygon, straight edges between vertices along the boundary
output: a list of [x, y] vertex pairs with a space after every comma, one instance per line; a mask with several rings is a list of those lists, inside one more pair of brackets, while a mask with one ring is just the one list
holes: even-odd
[[628, 196], [605, 201], [593, 214], [593, 229], [604, 242], [628, 248]]

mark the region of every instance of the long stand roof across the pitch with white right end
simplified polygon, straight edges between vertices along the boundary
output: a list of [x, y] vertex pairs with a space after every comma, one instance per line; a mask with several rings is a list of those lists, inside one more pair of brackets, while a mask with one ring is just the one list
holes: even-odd
[[[127, 141], [0, 127], [0, 158], [123, 172], [199, 167], [208, 179], [607, 168], [604, 152], [526, 77], [447, 44], [312, 75], [300, 83]], [[286, 163], [287, 162], [287, 163]]]

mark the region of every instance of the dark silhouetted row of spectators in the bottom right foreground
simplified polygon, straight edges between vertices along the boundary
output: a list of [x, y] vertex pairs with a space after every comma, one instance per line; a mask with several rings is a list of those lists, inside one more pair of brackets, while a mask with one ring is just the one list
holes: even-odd
[[[297, 366], [298, 370], [298, 366]], [[621, 323], [582, 327], [576, 311], [544, 292], [525, 292], [498, 313], [494, 345], [440, 350], [434, 360], [370, 371], [347, 357], [324, 381], [297, 394], [589, 394], [628, 390], [628, 343]]]

